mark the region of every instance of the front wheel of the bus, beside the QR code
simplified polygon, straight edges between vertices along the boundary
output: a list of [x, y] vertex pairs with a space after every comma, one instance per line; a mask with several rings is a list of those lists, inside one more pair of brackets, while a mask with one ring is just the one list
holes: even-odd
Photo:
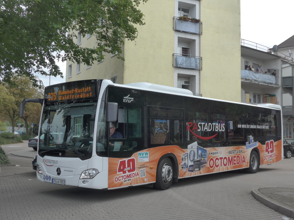
[[156, 170], [156, 182], [154, 183], [154, 188], [166, 190], [171, 187], [173, 183], [173, 164], [171, 159], [163, 158]]

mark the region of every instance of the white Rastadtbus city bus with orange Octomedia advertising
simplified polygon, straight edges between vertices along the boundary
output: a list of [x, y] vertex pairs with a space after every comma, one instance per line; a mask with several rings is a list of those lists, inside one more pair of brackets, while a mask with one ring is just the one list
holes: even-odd
[[[283, 160], [281, 107], [95, 79], [45, 87], [37, 179], [94, 189], [153, 185]], [[41, 138], [40, 138], [41, 137]]]

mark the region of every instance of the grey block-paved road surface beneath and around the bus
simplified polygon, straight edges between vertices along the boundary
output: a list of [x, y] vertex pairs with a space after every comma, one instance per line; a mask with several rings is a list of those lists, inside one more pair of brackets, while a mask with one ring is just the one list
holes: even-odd
[[258, 202], [253, 188], [294, 186], [294, 159], [257, 174], [225, 172], [173, 183], [102, 191], [42, 183], [36, 174], [0, 178], [1, 219], [291, 219]]

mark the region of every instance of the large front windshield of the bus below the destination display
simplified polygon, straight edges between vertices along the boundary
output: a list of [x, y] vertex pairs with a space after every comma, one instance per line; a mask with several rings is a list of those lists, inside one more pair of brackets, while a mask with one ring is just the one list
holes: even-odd
[[45, 106], [39, 155], [91, 158], [97, 102]]

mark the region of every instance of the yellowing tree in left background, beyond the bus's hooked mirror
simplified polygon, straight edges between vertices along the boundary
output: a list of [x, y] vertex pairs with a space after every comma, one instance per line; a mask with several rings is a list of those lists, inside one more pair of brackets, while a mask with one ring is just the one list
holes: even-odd
[[[25, 98], [40, 98], [38, 97], [40, 96], [40, 90], [33, 86], [33, 82], [29, 77], [17, 77], [14, 75], [11, 81], [13, 82], [12, 84], [3, 83], [0, 85], [0, 113], [9, 118], [12, 132], [14, 132], [14, 126], [16, 126], [16, 121], [19, 119], [21, 101]], [[29, 116], [29, 114], [26, 116]], [[27, 121], [25, 122], [27, 123]]]

